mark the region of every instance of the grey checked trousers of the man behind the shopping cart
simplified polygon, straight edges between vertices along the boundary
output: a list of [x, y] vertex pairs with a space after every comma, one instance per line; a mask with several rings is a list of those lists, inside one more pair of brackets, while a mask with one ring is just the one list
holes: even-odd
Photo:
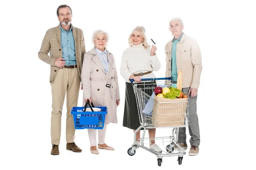
[[[183, 93], [188, 94], [189, 88], [183, 88]], [[200, 144], [200, 133], [199, 133], [199, 124], [198, 124], [198, 116], [196, 113], [196, 100], [197, 95], [195, 97], [190, 97], [189, 95], [189, 135], [191, 138], [189, 139], [191, 146], [198, 147]], [[179, 129], [179, 138], [178, 142], [186, 143], [186, 127], [180, 127]]]

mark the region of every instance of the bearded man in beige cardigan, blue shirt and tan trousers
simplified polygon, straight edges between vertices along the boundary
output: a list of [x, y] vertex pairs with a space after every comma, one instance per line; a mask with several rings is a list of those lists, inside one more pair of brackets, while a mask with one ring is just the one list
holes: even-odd
[[[70, 113], [77, 106], [81, 84], [81, 69], [85, 54], [84, 34], [71, 24], [72, 9], [61, 5], [57, 8], [60, 24], [50, 28], [38, 52], [38, 57], [51, 65], [50, 84], [52, 86], [52, 117], [51, 140], [52, 155], [58, 155], [58, 145], [61, 138], [61, 115], [64, 99], [67, 93], [66, 141], [67, 150], [81, 152], [74, 143], [75, 127]], [[48, 55], [50, 51], [50, 56]]]

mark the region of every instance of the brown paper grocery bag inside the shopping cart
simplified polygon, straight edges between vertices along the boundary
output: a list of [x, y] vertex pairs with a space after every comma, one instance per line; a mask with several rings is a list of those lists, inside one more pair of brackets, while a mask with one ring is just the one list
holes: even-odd
[[156, 127], [185, 125], [188, 98], [165, 99], [154, 96], [157, 101], [153, 107], [152, 124]]

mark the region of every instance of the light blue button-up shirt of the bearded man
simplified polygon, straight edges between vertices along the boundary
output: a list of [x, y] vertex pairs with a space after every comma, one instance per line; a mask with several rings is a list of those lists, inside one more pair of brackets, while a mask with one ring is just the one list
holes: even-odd
[[76, 65], [75, 40], [73, 36], [72, 25], [70, 30], [67, 31], [61, 27], [61, 48], [62, 57], [66, 62], [65, 65]]

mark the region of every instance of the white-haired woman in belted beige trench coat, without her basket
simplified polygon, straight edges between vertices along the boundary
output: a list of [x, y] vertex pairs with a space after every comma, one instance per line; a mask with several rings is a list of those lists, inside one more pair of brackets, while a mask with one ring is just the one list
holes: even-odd
[[[106, 128], [109, 123], [117, 123], [116, 107], [119, 105], [119, 85], [116, 64], [113, 54], [105, 46], [108, 33], [96, 30], [92, 37], [95, 47], [84, 54], [81, 79], [83, 85], [83, 105], [87, 99], [94, 106], [106, 106], [108, 114], [105, 116], [103, 129], [98, 129], [98, 148], [114, 150], [105, 143]], [[96, 129], [88, 129], [90, 151], [99, 154], [96, 146]]]

